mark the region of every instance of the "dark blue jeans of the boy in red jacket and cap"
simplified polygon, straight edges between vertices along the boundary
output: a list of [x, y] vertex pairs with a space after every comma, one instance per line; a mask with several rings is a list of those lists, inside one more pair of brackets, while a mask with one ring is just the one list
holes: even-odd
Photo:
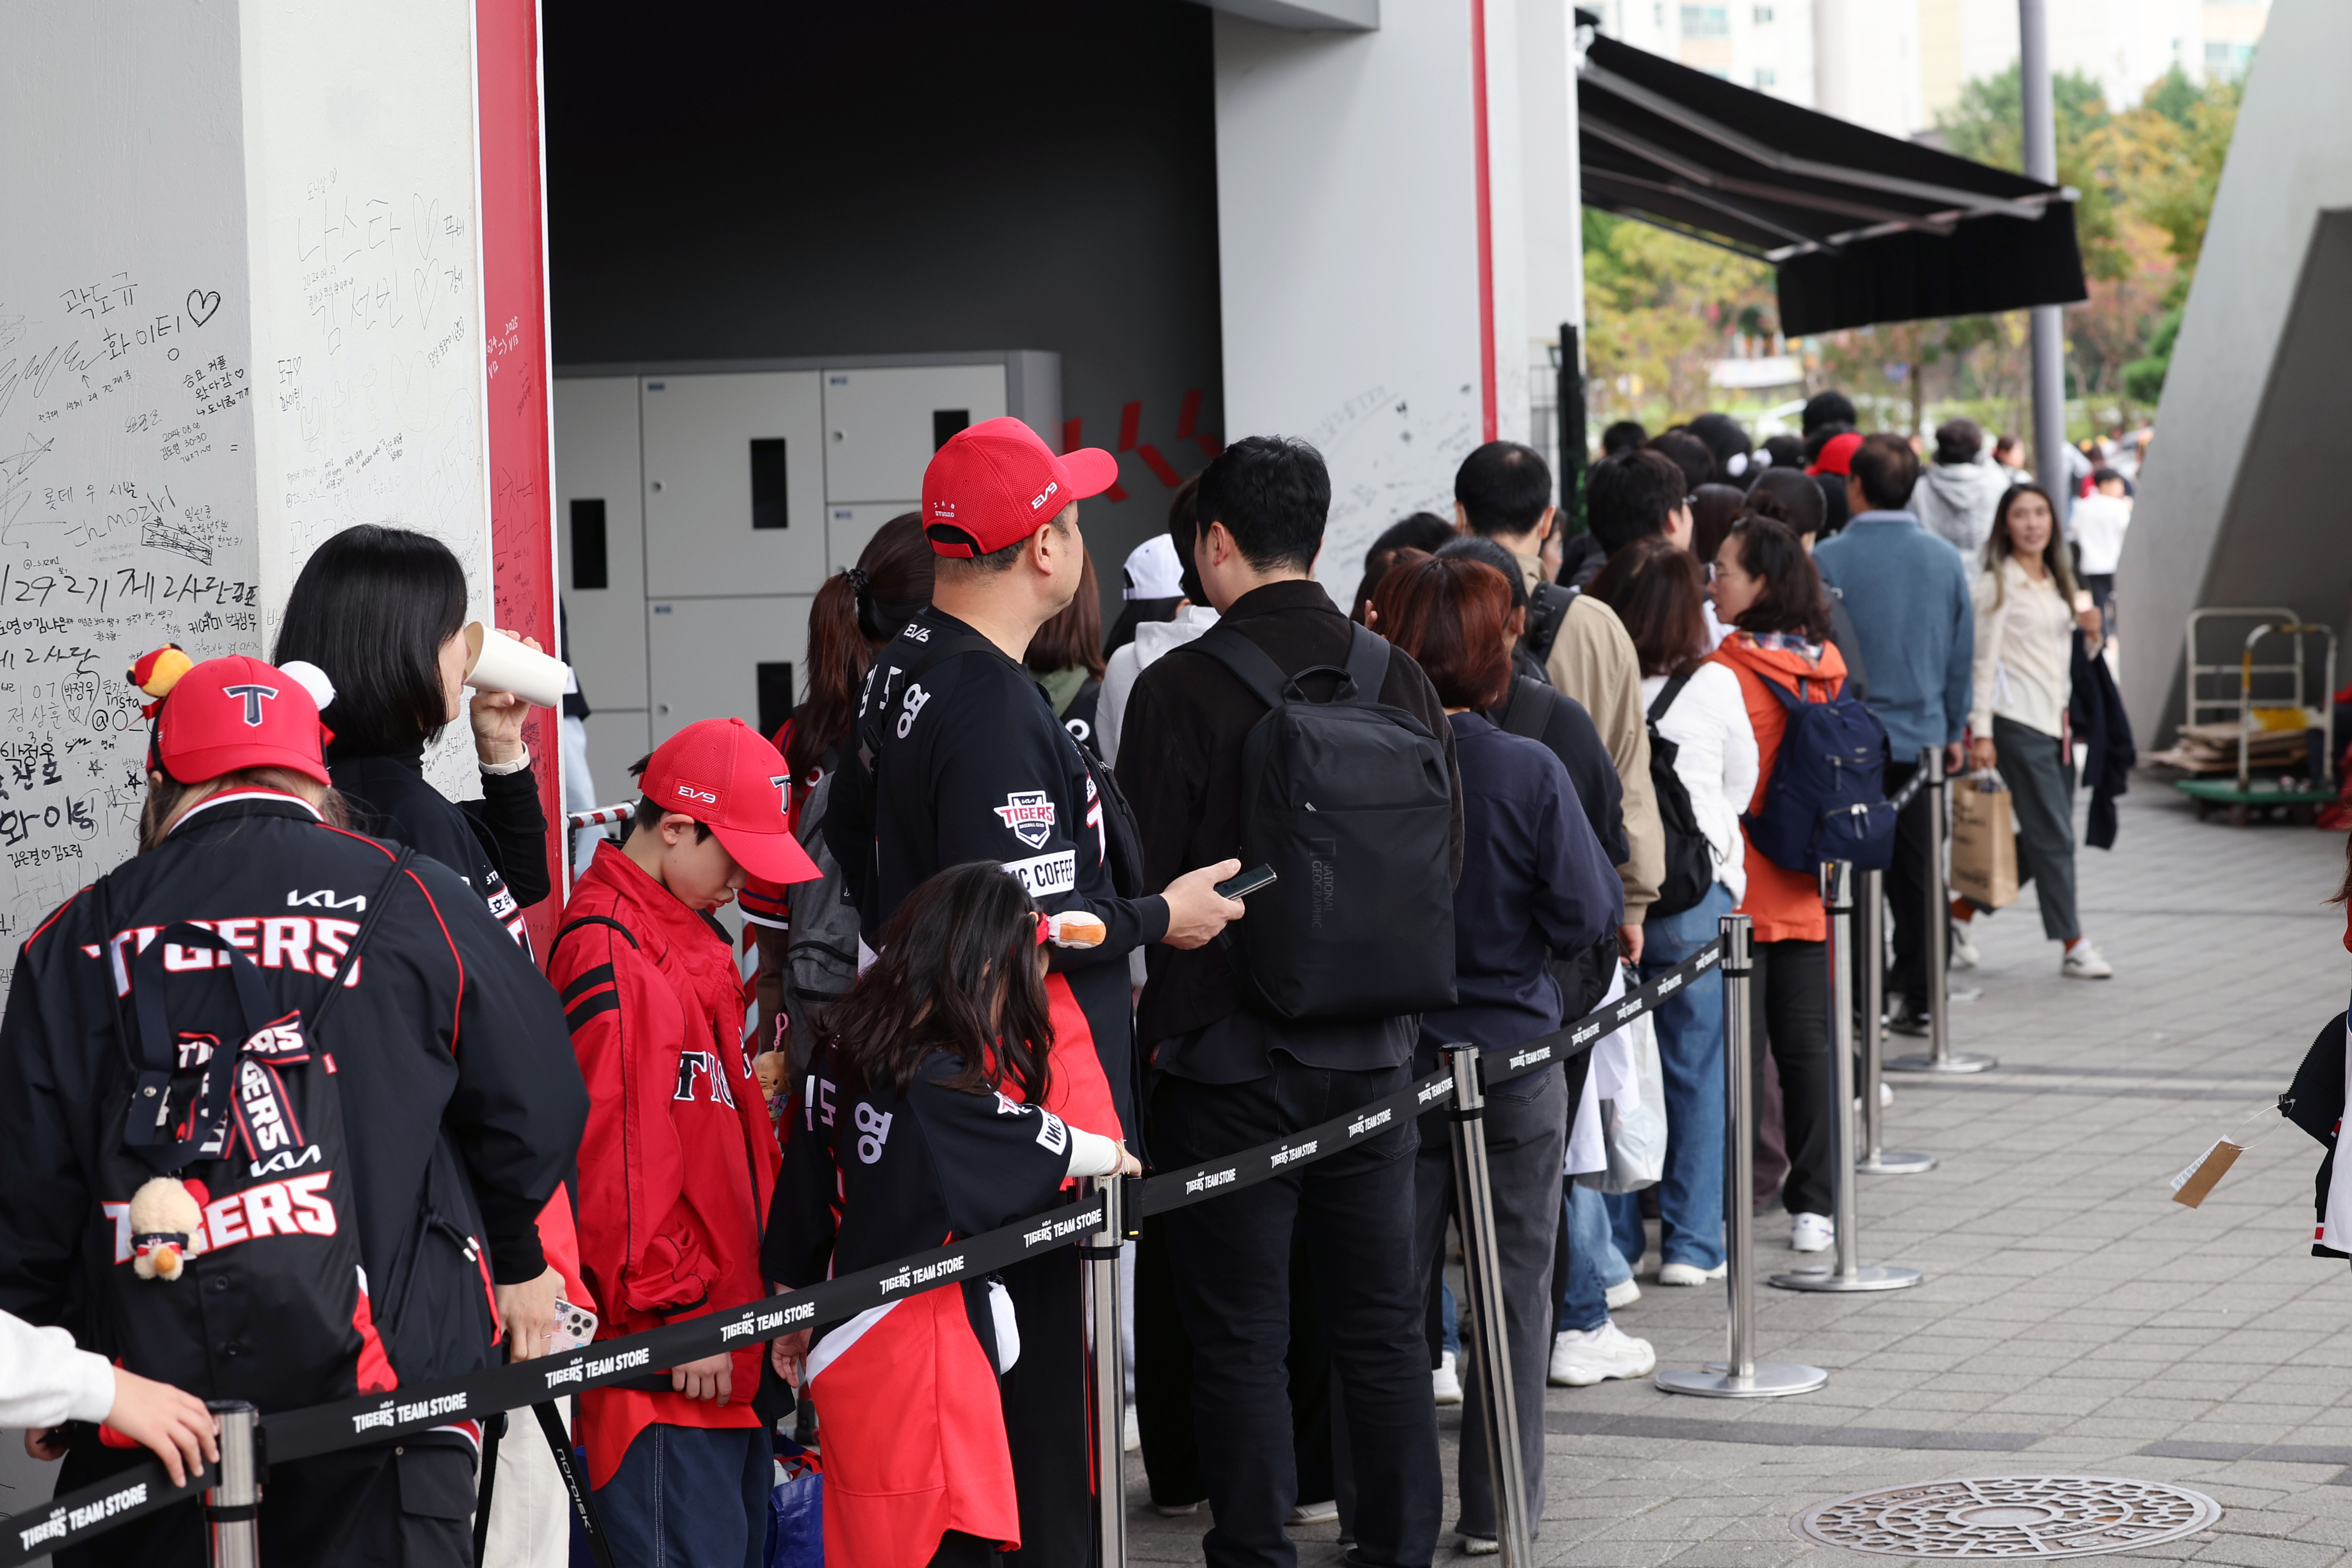
[[760, 1427], [654, 1422], [630, 1441], [612, 1481], [595, 1488], [595, 1512], [616, 1563], [760, 1568], [774, 1481]]

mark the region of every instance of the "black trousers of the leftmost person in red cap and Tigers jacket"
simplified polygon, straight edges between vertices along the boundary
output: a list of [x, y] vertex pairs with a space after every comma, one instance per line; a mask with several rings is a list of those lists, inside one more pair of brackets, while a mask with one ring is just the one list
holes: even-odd
[[[66, 1455], [56, 1490], [92, 1486], [143, 1458], [146, 1448], [103, 1448], [89, 1436]], [[158, 1509], [54, 1561], [56, 1568], [205, 1568], [205, 1514], [193, 1500]], [[470, 1568], [473, 1448], [447, 1434], [412, 1436], [270, 1465], [261, 1493], [261, 1561]]]

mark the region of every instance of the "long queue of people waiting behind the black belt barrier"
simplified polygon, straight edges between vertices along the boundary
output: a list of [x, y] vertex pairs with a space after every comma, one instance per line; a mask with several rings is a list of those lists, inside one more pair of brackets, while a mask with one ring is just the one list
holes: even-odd
[[[522, 929], [555, 886], [536, 759], [517, 698], [463, 696], [463, 571], [393, 527], [329, 538], [273, 663], [139, 661], [141, 853], [19, 947], [0, 1410], [66, 1460], [64, 1488], [139, 1446], [179, 1476], [216, 1446], [162, 1385], [294, 1408], [541, 1356], [560, 1316], [609, 1340], [807, 1288], [1073, 1201], [1077, 1178], [1289, 1138], [1451, 1044], [1555, 1037], [1733, 910], [1790, 1246], [1830, 1246], [1823, 907], [1813, 867], [1757, 842], [1806, 705], [1865, 701], [1889, 788], [1922, 748], [1999, 776], [2060, 973], [2112, 973], [2077, 922], [2065, 745], [2100, 609], [2051, 494], [2004, 487], [1964, 548], [1922, 522], [1910, 444], [1842, 414], [1802, 454], [1722, 416], [1613, 425], [1566, 548], [1543, 458], [1489, 442], [1451, 522], [1390, 529], [1345, 607], [1315, 581], [1322, 456], [1237, 440], [1124, 564], [1110, 646], [1080, 505], [1115, 458], [1011, 418], [962, 430], [922, 510], [816, 595], [790, 722], [689, 724], [630, 769], [628, 830], [546, 954]], [[1969, 435], [1943, 468], [1973, 463]], [[473, 802], [421, 764], [461, 717]], [[1889, 877], [1896, 1027], [1926, 999], [1924, 799]], [[1261, 865], [1247, 900], [1221, 886]], [[729, 903], [750, 983], [713, 919]], [[1653, 1204], [1602, 1190], [1623, 1185], [1595, 1128], [1628, 1037], [1491, 1086], [1538, 1530], [1543, 1389], [1656, 1366], [1613, 1321], [1644, 1211], [1651, 1284], [1724, 1274], [1722, 1006], [1705, 973], [1646, 1025]], [[1470, 1389], [1451, 1528], [1498, 1549], [1484, 1380], [1446, 1349], [1442, 1121], [1145, 1225], [1143, 1458], [1164, 1514], [1209, 1509], [1207, 1561], [1289, 1563], [1287, 1528], [1336, 1512], [1355, 1561], [1428, 1563], [1446, 1382]], [[771, 1455], [814, 1427], [837, 1561], [1080, 1568], [1080, 1307], [1058, 1248], [581, 1394], [614, 1556], [757, 1568]], [[1477, 1356], [1472, 1335], [1465, 1373]], [[564, 1561], [569, 1505], [508, 1472], [515, 1448], [485, 1561]], [[278, 1465], [263, 1552], [473, 1561], [480, 1455], [480, 1422], [452, 1420]], [[202, 1530], [167, 1507], [61, 1561], [195, 1563]]]

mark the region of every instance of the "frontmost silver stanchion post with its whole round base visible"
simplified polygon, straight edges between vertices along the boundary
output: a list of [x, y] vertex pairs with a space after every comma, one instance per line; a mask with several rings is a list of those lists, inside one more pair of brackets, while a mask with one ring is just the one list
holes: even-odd
[[1830, 1382], [1830, 1373], [1797, 1361], [1757, 1361], [1755, 1298], [1755, 1208], [1757, 1208], [1757, 1128], [1755, 1128], [1755, 1051], [1750, 994], [1755, 966], [1745, 914], [1724, 914], [1724, 1295], [1729, 1298], [1729, 1354], [1698, 1371], [1658, 1373], [1668, 1394], [1703, 1399], [1771, 1399], [1776, 1394], [1811, 1394]]

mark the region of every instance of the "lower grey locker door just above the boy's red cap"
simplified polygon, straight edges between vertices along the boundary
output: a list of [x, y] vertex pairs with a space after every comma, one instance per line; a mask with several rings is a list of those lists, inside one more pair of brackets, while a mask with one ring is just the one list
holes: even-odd
[[807, 686], [811, 602], [804, 592], [652, 599], [644, 607], [652, 743], [661, 745], [696, 719], [729, 717], [774, 736]]

